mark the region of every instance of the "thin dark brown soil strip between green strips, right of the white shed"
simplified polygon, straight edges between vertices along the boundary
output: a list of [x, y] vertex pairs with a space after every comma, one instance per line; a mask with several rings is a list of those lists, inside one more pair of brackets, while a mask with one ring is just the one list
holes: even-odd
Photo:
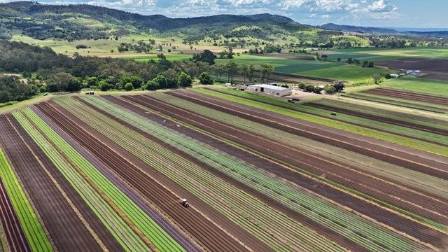
[[[424, 125], [419, 125], [419, 124], [415, 124], [415, 123], [408, 123], [402, 120], [396, 120], [396, 119], [392, 119], [392, 118], [386, 118], [383, 116], [374, 116], [371, 115], [369, 113], [361, 113], [361, 112], [357, 112], [357, 111], [351, 111], [349, 109], [341, 109], [338, 108], [336, 106], [328, 106], [328, 105], [324, 105], [324, 104], [317, 104], [314, 102], [307, 102], [305, 105], [307, 106], [312, 106], [314, 108], [318, 108], [318, 109], [325, 109], [328, 111], [335, 111], [338, 113], [344, 113], [346, 115], [350, 115], [350, 116], [358, 116], [360, 118], [367, 118], [370, 120], [377, 120], [379, 122], [383, 122], [383, 123], [391, 123], [393, 125], [398, 125], [398, 126], [402, 126], [402, 127], [409, 127], [415, 130], [421, 130], [424, 132], [431, 132], [434, 134], [441, 134], [444, 136], [448, 136], [448, 130], [443, 130], [443, 129], [437, 129], [435, 127], [429, 127], [429, 126], [424, 126]], [[440, 143], [437, 143], [440, 144]]]

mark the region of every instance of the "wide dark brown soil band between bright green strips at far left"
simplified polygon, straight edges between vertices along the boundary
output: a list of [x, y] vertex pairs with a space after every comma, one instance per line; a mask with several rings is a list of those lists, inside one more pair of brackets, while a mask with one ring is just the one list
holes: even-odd
[[[34, 202], [56, 248], [61, 251], [101, 250], [83, 221], [78, 218], [69, 202], [57, 190], [55, 183], [52, 182], [50, 176], [47, 176], [43, 169], [48, 169], [52, 177], [58, 181], [57, 183], [64, 189], [64, 193], [69, 196], [104, 245], [113, 251], [123, 251], [116, 239], [94, 216], [90, 207], [69, 185], [69, 182], [64, 179], [62, 174], [57, 171], [57, 168], [52, 165], [38, 146], [34, 144], [34, 141], [31, 140], [28, 134], [22, 130], [17, 121], [10, 115], [6, 118], [8, 119], [1, 120], [0, 125], [2, 132], [4, 132], [1, 141], [5, 141], [2, 144], [15, 143], [8, 144], [5, 151], [8, 153], [8, 157], [13, 162], [14, 167], [20, 167], [20, 169], [16, 169], [17, 175], [24, 183], [31, 201]], [[22, 141], [20, 137], [23, 137], [24, 140]], [[45, 167], [42, 167], [39, 162]]]

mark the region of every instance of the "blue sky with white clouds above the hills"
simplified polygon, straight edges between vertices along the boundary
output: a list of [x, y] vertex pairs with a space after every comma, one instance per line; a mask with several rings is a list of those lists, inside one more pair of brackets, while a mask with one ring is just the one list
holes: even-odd
[[[6, 0], [0, 0], [6, 1]], [[271, 13], [308, 25], [334, 22], [369, 27], [448, 28], [448, 0], [41, 0], [89, 3], [169, 18]]]

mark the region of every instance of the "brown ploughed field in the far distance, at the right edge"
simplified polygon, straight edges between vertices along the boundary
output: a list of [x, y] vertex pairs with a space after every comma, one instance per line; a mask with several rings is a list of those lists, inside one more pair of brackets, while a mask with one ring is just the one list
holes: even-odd
[[428, 73], [427, 76], [421, 76], [422, 78], [448, 80], [448, 59], [406, 58], [376, 62], [375, 64], [390, 69], [420, 70], [422, 73]]

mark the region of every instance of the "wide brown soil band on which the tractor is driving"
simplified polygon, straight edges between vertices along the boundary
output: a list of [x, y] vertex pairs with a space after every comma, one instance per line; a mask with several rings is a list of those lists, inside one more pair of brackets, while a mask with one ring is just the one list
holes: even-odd
[[[187, 197], [197, 209], [204, 210], [207, 216], [231, 232], [232, 235], [240, 238], [241, 241], [253, 248], [254, 251], [269, 251], [269, 248], [264, 246], [264, 244], [251, 235], [248, 235], [236, 225], [230, 224], [221, 214], [211, 210], [207, 204], [198, 200], [194, 195], [186, 192], [186, 190], [180, 188], [165, 178], [164, 175], [159, 174], [155, 169], [146, 165], [146, 163], [135, 158], [132, 154], [102, 136], [102, 134], [99, 134], [99, 132], [96, 132], [68, 111], [64, 111], [62, 107], [55, 104], [50, 106], [50, 104], [45, 103], [41, 104], [41, 111], [46, 116], [52, 118], [59, 127], [62, 127], [67, 134], [73, 137], [73, 139], [76, 139], [79, 144], [87, 148], [90, 153], [104, 162], [116, 174], [122, 176], [122, 179], [139, 190], [148, 200], [160, 207], [162, 211], [176, 221], [186, 232], [195, 237], [197, 242], [207, 250], [246, 251], [235, 239], [232, 239], [232, 237], [217, 228], [213, 223], [204, 218], [204, 216], [197, 213], [197, 211], [192, 208], [185, 209], [181, 207], [179, 197], [176, 197], [169, 190], [159, 186], [159, 182], [176, 191], [179, 195]], [[60, 113], [59, 111], [64, 111], [64, 113]], [[146, 172], [151, 174], [157, 181], [151, 179]]]

